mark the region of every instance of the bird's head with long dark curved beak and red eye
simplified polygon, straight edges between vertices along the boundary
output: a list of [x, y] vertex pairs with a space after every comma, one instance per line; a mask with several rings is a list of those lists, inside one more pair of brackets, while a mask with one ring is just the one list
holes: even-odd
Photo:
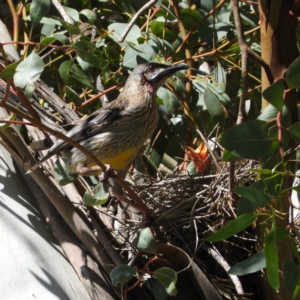
[[124, 89], [132, 88], [136, 83], [139, 87], [143, 86], [150, 94], [156, 93], [165, 80], [177, 71], [188, 69], [187, 65], [168, 66], [158, 63], [145, 63], [138, 65], [128, 77]]

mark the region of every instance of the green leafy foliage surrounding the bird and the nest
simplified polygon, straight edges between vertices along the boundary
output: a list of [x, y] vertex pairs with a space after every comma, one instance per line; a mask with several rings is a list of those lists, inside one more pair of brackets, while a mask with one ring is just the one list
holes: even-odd
[[[218, 3], [222, 5], [214, 9]], [[270, 105], [261, 111], [261, 68], [249, 59], [246, 120], [236, 124], [243, 86], [241, 49], [230, 1], [205, 0], [193, 5], [187, 1], [158, 1], [137, 18], [124, 41], [120, 41], [120, 37], [144, 5], [143, 1], [64, 1], [63, 4], [71, 22], [62, 18], [50, 0], [28, 2], [23, 9], [22, 26], [15, 35], [22, 58], [7, 65], [0, 77], [13, 78], [15, 86], [25, 89], [28, 98], [37, 80], [42, 79], [77, 112], [90, 114], [102, 105], [95, 97], [103, 92], [96, 86], [97, 78], [101, 78], [105, 89], [112, 90], [110, 93], [104, 91], [112, 100], [118, 94], [117, 87], [122, 86], [130, 70], [140, 63], [188, 63], [197, 74], [188, 71], [185, 77], [184, 73], [178, 73], [157, 93], [160, 122], [145, 151], [147, 171], [157, 175], [159, 166], [167, 165], [167, 156], [175, 161], [171, 172], [177, 165], [184, 165], [182, 161], [187, 158], [188, 147], [201, 145], [198, 131], [210, 139], [217, 138], [224, 161], [259, 160], [262, 168], [249, 171], [260, 174], [260, 186], [253, 184], [235, 189], [241, 196], [238, 211], [243, 213], [208, 240], [224, 240], [253, 224], [258, 217], [262, 222], [270, 221], [271, 231], [264, 249], [259, 249], [259, 257], [255, 255], [250, 263], [249, 260], [241, 262], [236, 272], [243, 275], [266, 266], [270, 284], [278, 289], [276, 242], [286, 239], [296, 249], [296, 233], [278, 227], [276, 216], [280, 214], [280, 201], [290, 192], [285, 179], [291, 175], [288, 161], [278, 153], [287, 151], [290, 141], [298, 143], [300, 140], [300, 123], [291, 124], [285, 106], [286, 93], [299, 88], [300, 60], [289, 66], [284, 78], [263, 91]], [[16, 11], [19, 8], [16, 7]], [[8, 14], [2, 14], [8, 18]], [[240, 14], [248, 46], [260, 54], [256, 5], [241, 3]], [[136, 168], [142, 170], [138, 163]], [[197, 171], [191, 170], [186, 173], [195, 175]], [[59, 178], [63, 184], [72, 180], [64, 176]], [[85, 194], [84, 201], [87, 205], [99, 205], [107, 198], [107, 186], [97, 187], [93, 193]], [[265, 211], [255, 212], [260, 208]], [[150, 249], [148, 253], [158, 257], [156, 242], [152, 237], [149, 242], [149, 237], [149, 232], [146, 235], [140, 232], [137, 247], [145, 252]], [[295, 256], [298, 258], [297, 250]], [[259, 263], [255, 265], [256, 259]], [[255, 266], [240, 271], [249, 264]], [[232, 268], [232, 273], [234, 270], [236, 268]], [[299, 290], [299, 266], [286, 262], [283, 271], [288, 289], [295, 298]], [[135, 273], [131, 267], [118, 266], [111, 274], [112, 282], [114, 285], [127, 283]], [[142, 272], [140, 280], [145, 274]], [[151, 276], [164, 285], [169, 295], [175, 294], [175, 271], [163, 267]], [[290, 280], [293, 285], [288, 283]]]

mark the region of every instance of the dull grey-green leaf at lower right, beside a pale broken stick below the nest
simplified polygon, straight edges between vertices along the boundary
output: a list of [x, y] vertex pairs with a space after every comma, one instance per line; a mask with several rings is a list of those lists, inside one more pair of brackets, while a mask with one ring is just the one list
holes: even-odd
[[243, 260], [242, 262], [234, 265], [228, 271], [230, 275], [246, 275], [250, 273], [255, 273], [266, 267], [266, 259], [264, 255], [264, 250], [261, 250], [251, 257]]

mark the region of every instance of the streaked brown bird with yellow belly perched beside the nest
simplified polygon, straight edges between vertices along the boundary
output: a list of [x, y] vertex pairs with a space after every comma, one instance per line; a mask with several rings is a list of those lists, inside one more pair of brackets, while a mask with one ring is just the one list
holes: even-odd
[[[185, 64], [174, 66], [148, 62], [138, 65], [115, 100], [80, 120], [66, 136], [124, 178], [157, 127], [159, 113], [155, 99], [158, 88], [171, 75], [185, 69], [188, 69]], [[71, 174], [91, 176], [101, 173], [94, 161], [63, 140], [57, 140], [31, 171], [58, 153], [66, 160], [66, 169]], [[121, 193], [118, 190], [116, 193]]]

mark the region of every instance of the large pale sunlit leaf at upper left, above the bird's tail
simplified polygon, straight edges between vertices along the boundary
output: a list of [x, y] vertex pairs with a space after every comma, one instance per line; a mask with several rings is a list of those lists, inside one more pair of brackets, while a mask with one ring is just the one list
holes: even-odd
[[34, 86], [34, 83], [40, 78], [44, 70], [44, 62], [40, 56], [32, 51], [16, 68], [14, 75], [15, 85], [21, 89], [25, 86]]

